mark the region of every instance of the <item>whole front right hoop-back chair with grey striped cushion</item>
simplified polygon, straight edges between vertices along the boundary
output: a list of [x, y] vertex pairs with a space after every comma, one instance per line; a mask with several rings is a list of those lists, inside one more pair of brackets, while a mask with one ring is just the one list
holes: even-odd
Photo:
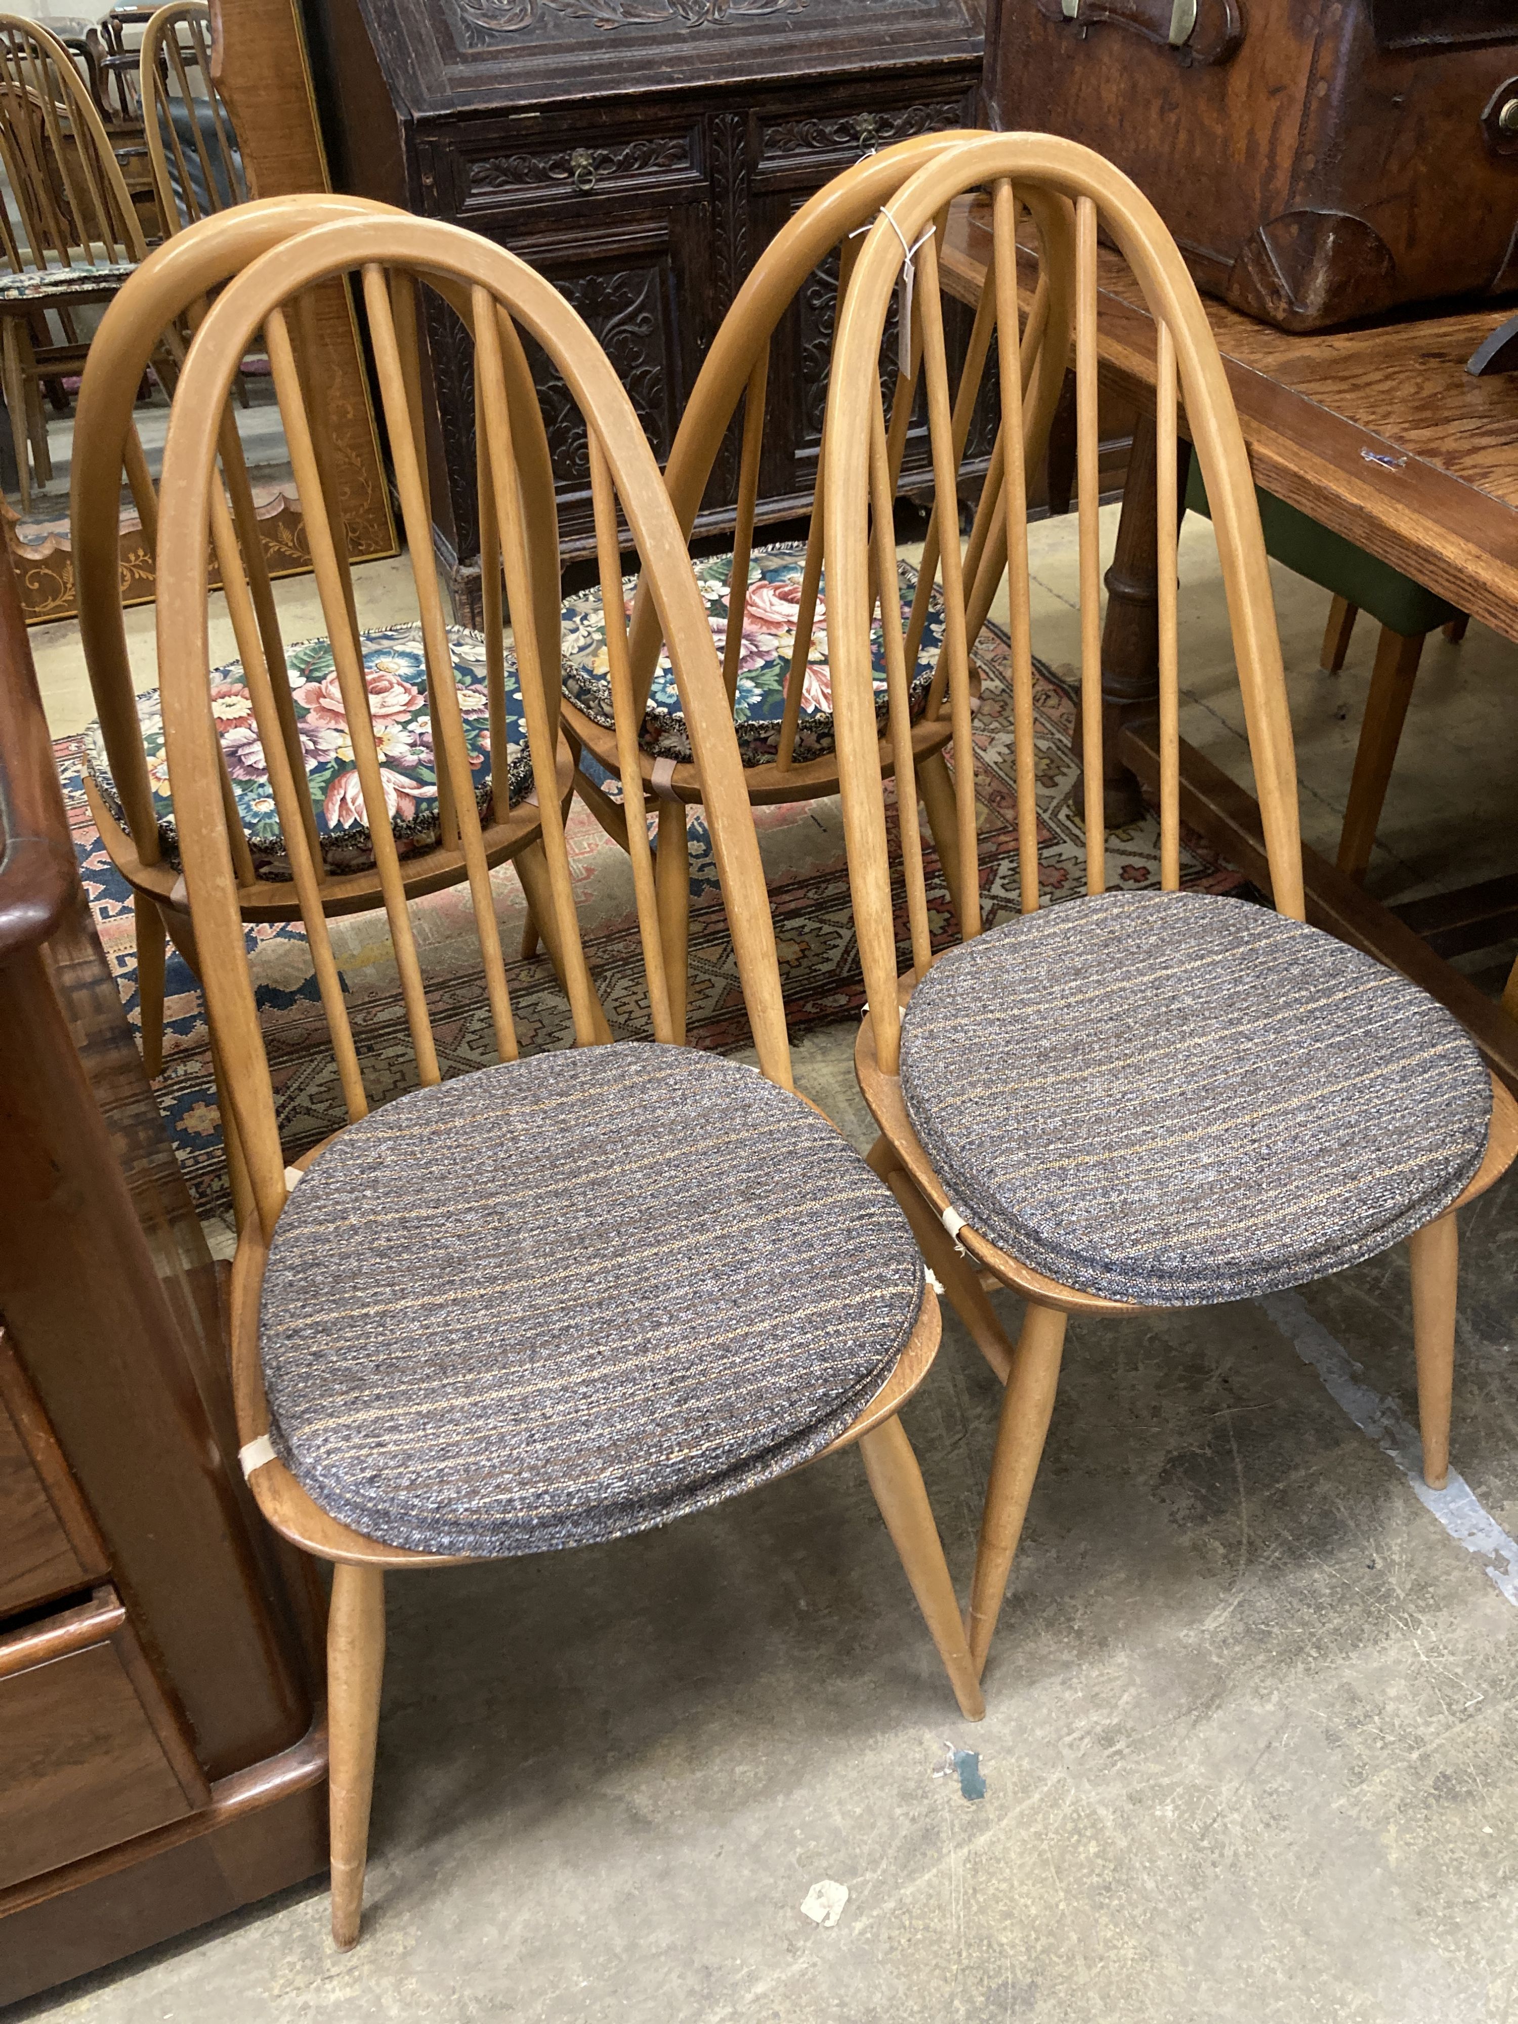
[[[874, 376], [901, 243], [967, 190], [994, 204], [994, 287], [1016, 316], [1016, 213], [1030, 192], [1075, 206], [1081, 729], [1087, 897], [1038, 911], [1032, 642], [1018, 376], [1002, 364], [1006, 569], [1022, 917], [933, 963], [921, 838], [901, 824], [911, 972], [897, 978], [891, 864], [870, 704], [870, 553], [889, 551], [889, 468]], [[1423, 1469], [1449, 1467], [1455, 1208], [1518, 1148], [1518, 1105], [1463, 1028], [1405, 978], [1303, 925], [1295, 761], [1249, 459], [1196, 287], [1154, 206], [1087, 148], [976, 140], [921, 170], [858, 257], [834, 344], [824, 453], [830, 648], [850, 884], [868, 1014], [856, 1069], [891, 1180], [955, 1312], [1006, 1382], [967, 1617], [982, 1668], [1048, 1429], [1067, 1316], [1251, 1297], [1407, 1239]], [[1097, 223], [1158, 326], [1162, 893], [1107, 893], [1101, 810]], [[901, 237], [897, 237], [901, 233]], [[939, 502], [955, 445], [933, 241], [919, 253]], [[1004, 354], [1006, 356], [1006, 354]], [[1222, 559], [1275, 909], [1180, 893], [1176, 415], [1200, 457]], [[941, 516], [943, 524], [943, 516]], [[963, 571], [943, 555], [955, 755], [969, 755]], [[903, 648], [887, 617], [893, 723]], [[911, 802], [911, 779], [897, 793]], [[959, 820], [974, 773], [955, 765]], [[905, 1012], [901, 1010], [905, 1006]], [[1028, 1301], [1016, 1346], [982, 1275]]]

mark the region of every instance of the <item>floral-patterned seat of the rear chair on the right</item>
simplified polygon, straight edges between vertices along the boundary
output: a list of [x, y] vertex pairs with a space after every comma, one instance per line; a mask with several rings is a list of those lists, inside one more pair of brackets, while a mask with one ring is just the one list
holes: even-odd
[[[773, 542], [755, 549], [749, 557], [749, 595], [743, 609], [743, 652], [739, 656], [739, 686], [733, 698], [733, 721], [739, 735], [739, 753], [745, 765], [769, 765], [779, 757], [779, 731], [785, 714], [785, 670], [795, 646], [795, 613], [802, 599], [802, 575], [806, 569], [804, 542]], [[714, 555], [696, 563], [696, 581], [706, 601], [712, 638], [719, 654], [727, 646], [729, 581], [733, 557]], [[826, 575], [824, 575], [826, 587]], [[627, 593], [627, 613], [638, 577], [623, 579]], [[917, 579], [909, 565], [903, 565], [903, 634], [911, 613]], [[939, 660], [943, 640], [943, 599], [933, 593], [923, 627], [923, 644], [917, 654], [917, 668], [911, 682], [913, 721], [927, 706], [927, 692], [933, 686], [933, 670]], [[607, 672], [605, 623], [601, 619], [601, 593], [585, 591], [571, 597], [563, 611], [563, 680], [565, 698], [583, 710], [595, 725], [615, 727], [611, 712], [611, 676]], [[874, 623], [874, 698], [880, 729], [887, 723], [887, 674], [884, 640], [880, 621]], [[648, 710], [642, 727], [642, 747], [654, 759], [674, 759], [680, 765], [690, 761], [690, 733], [680, 710], [680, 690], [674, 682], [674, 668], [668, 654], [660, 654], [654, 670], [654, 684], [648, 694]], [[834, 749], [832, 727], [832, 682], [828, 674], [828, 607], [818, 595], [818, 613], [812, 629], [812, 652], [802, 688], [802, 716], [795, 727], [795, 765], [808, 759], [826, 759]]]

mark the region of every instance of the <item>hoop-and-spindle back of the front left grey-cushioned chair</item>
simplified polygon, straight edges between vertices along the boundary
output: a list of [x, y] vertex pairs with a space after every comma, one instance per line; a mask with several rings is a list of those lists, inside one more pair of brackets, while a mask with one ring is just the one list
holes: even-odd
[[[585, 965], [565, 850], [565, 789], [559, 769], [557, 712], [551, 708], [559, 676], [557, 615], [546, 640], [540, 638], [536, 623], [538, 601], [530, 549], [542, 540], [544, 518], [549, 526], [555, 526], [555, 494], [546, 459], [546, 429], [522, 334], [530, 336], [557, 366], [587, 425], [603, 595], [611, 597], [609, 609], [619, 605], [617, 506], [627, 520], [652, 585], [660, 625], [670, 642], [694, 761], [704, 783], [712, 848], [759, 1061], [773, 1081], [789, 1087], [773, 929], [737, 739], [686, 546], [625, 391], [569, 304], [524, 261], [500, 247], [451, 225], [423, 219], [368, 217], [324, 225], [267, 251], [225, 287], [206, 314], [190, 346], [174, 401], [160, 488], [158, 664], [178, 840], [221, 1073], [251, 1194], [265, 1231], [273, 1229], [287, 1188], [273, 1083], [247, 967], [235, 838], [229, 834], [225, 818], [221, 745], [206, 682], [210, 656], [206, 627], [208, 551], [204, 542], [204, 528], [210, 526], [223, 579], [231, 593], [239, 579], [229, 571], [233, 532], [217, 476], [217, 459], [233, 372], [259, 328], [269, 348], [285, 439], [291, 447], [296, 482], [306, 510], [312, 563], [352, 745], [352, 793], [362, 802], [374, 842], [417, 1073], [423, 1083], [441, 1079], [417, 945], [407, 917], [407, 895], [389, 826], [383, 745], [368, 710], [352, 585], [338, 551], [318, 468], [316, 435], [320, 423], [308, 409], [291, 342], [298, 316], [291, 314], [289, 306], [293, 304], [298, 310], [314, 285], [352, 271], [360, 275], [383, 419], [421, 607], [437, 795], [445, 810], [445, 822], [455, 826], [457, 848], [468, 862], [474, 923], [500, 1057], [512, 1059], [518, 1042], [480, 842], [480, 816], [463, 743], [441, 585], [431, 549], [431, 504], [423, 463], [419, 395], [419, 283], [439, 291], [466, 318], [466, 328], [474, 338], [484, 581], [488, 591], [494, 589], [504, 567], [506, 609], [512, 623], [536, 816], [542, 826], [553, 897], [553, 925], [542, 923], [542, 929], [544, 937], [553, 933], [559, 941], [577, 1044], [601, 1038], [605, 1024], [599, 1018], [599, 1004]], [[553, 544], [557, 553], [557, 530]], [[277, 690], [259, 656], [251, 611], [245, 609], [239, 619], [237, 599], [229, 597], [229, 603], [259, 714], [269, 779], [281, 812], [281, 828], [302, 899], [302, 919], [348, 1115], [358, 1117], [366, 1109], [366, 1093], [342, 1002], [342, 982], [332, 957], [314, 852], [298, 808], [304, 785], [304, 771], [298, 765], [300, 747], [296, 743], [293, 751], [289, 749], [287, 727], [277, 716]], [[500, 652], [500, 613], [494, 631], [490, 611], [486, 615], [486, 646]], [[638, 725], [631, 716], [625, 629], [611, 625], [607, 646], [619, 737], [634, 741]], [[646, 844], [642, 781], [636, 767], [623, 777], [629, 795], [627, 826], [634, 836], [642, 832]], [[636, 854], [634, 872], [656, 1038], [666, 1038], [668, 1016], [660, 1016], [662, 955], [652, 868]], [[664, 1010], [668, 1012], [666, 1004]], [[662, 1026], [664, 1032], [660, 1032]]]

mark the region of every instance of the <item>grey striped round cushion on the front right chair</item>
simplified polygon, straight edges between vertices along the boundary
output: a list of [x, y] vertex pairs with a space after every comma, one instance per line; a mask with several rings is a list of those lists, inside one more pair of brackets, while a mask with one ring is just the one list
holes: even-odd
[[1455, 1200], [1492, 1115], [1433, 998], [1202, 893], [1069, 901], [953, 949], [907, 1006], [901, 1089], [974, 1231], [1144, 1305], [1374, 1257]]

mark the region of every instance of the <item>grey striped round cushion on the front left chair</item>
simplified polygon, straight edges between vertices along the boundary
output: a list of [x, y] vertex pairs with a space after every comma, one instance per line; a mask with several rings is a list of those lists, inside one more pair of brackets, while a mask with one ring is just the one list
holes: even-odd
[[536, 1055], [387, 1103], [300, 1182], [271, 1439], [385, 1544], [587, 1544], [816, 1455], [921, 1301], [895, 1198], [799, 1097], [682, 1046]]

